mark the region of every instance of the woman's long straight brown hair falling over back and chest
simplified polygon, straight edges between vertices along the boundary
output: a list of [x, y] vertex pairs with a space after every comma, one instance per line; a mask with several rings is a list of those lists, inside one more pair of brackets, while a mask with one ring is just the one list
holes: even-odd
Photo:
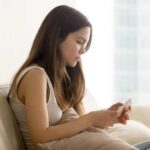
[[91, 28], [91, 35], [86, 50], [90, 47], [92, 39], [92, 26], [88, 19], [78, 10], [65, 5], [50, 11], [37, 32], [28, 58], [13, 79], [9, 94], [13, 90], [17, 91], [16, 80], [20, 72], [32, 64], [37, 64], [48, 74], [62, 111], [72, 106], [81, 115], [85, 92], [81, 62], [75, 67], [66, 66], [58, 47], [69, 33], [87, 26]]

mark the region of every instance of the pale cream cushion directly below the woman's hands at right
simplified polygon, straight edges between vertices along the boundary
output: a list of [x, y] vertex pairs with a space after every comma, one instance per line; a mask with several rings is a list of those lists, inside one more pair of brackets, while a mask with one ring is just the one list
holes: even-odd
[[150, 128], [135, 120], [128, 120], [127, 125], [116, 124], [107, 131], [111, 135], [118, 137], [129, 144], [150, 140]]

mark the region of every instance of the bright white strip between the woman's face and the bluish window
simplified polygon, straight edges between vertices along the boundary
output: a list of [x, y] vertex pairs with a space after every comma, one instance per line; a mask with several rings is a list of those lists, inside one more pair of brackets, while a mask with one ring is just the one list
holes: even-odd
[[87, 87], [98, 107], [109, 107], [113, 102], [113, 0], [77, 0], [77, 8], [93, 26], [92, 45], [82, 56]]

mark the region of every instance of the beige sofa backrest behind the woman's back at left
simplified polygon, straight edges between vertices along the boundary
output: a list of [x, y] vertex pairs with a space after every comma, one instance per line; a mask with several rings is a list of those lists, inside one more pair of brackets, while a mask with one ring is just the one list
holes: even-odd
[[24, 150], [15, 116], [6, 99], [8, 85], [0, 85], [0, 150]]

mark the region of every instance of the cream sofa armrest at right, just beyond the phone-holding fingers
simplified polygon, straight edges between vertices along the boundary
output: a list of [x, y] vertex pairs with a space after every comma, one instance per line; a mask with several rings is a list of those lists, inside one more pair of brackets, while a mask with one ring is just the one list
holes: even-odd
[[130, 119], [140, 121], [150, 127], [150, 104], [133, 105]]

